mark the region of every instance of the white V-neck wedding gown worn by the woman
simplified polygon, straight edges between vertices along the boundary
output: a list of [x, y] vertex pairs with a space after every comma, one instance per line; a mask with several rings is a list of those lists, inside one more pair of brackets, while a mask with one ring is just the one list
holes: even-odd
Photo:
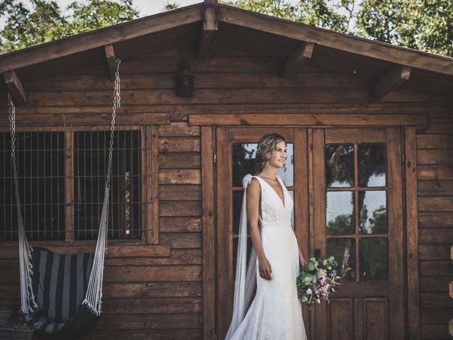
[[306, 340], [302, 304], [297, 297], [299, 248], [291, 224], [293, 201], [285, 184], [283, 202], [270, 184], [261, 186], [260, 234], [272, 280], [260, 277], [256, 263], [256, 295], [233, 340]]

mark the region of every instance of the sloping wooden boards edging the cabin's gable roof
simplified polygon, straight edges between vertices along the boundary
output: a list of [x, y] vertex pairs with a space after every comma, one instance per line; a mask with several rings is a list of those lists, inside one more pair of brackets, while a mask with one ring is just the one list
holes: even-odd
[[[226, 5], [219, 21], [429, 72], [453, 76], [453, 59], [358, 38]], [[203, 3], [47, 42], [0, 56], [0, 73], [202, 21]]]

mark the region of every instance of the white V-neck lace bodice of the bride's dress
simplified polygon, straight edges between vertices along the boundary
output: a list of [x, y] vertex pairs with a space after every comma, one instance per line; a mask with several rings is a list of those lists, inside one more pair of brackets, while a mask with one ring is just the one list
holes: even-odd
[[261, 224], [265, 225], [267, 223], [275, 222], [291, 222], [291, 212], [293, 207], [293, 201], [291, 195], [287, 191], [285, 184], [282, 179], [277, 176], [280, 186], [283, 188], [283, 195], [285, 197], [285, 204], [283, 203], [280, 196], [278, 196], [277, 191], [274, 190], [272, 186], [264, 179], [261, 179], [258, 176], [252, 176], [258, 179], [261, 186]]

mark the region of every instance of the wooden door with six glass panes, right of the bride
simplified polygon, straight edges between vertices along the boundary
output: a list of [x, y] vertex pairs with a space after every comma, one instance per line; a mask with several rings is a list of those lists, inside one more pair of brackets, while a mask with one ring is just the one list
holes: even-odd
[[404, 339], [400, 130], [312, 132], [315, 254], [344, 278], [315, 339]]

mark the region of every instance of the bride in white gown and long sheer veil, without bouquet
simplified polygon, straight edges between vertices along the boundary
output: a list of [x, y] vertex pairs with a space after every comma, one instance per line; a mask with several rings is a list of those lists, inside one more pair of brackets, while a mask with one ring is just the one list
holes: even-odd
[[[282, 135], [261, 137], [256, 176], [243, 179], [233, 317], [226, 340], [306, 339], [296, 287], [299, 263], [306, 261], [291, 225], [292, 198], [277, 176], [285, 168], [286, 147]], [[246, 268], [247, 225], [253, 249]], [[255, 283], [256, 295], [246, 312]]]

